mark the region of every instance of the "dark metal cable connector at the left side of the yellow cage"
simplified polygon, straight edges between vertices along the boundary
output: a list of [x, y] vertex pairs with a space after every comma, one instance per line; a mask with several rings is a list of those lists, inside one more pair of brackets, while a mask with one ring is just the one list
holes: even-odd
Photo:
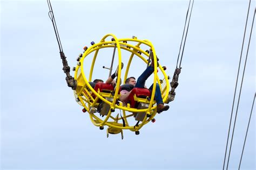
[[68, 87], [71, 87], [72, 90], [76, 90], [77, 88], [77, 81], [70, 75], [70, 67], [68, 65], [68, 61], [66, 60], [66, 56], [63, 52], [60, 53], [60, 58], [62, 59], [63, 64], [63, 71], [66, 74], [66, 83], [68, 84]]

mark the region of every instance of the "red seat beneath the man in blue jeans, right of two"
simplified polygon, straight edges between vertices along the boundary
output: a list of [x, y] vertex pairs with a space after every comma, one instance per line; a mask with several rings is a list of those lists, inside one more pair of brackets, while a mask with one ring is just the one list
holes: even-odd
[[134, 94], [137, 97], [140, 98], [146, 98], [147, 96], [151, 96], [151, 92], [149, 89], [145, 89], [145, 88], [133, 88], [132, 92], [130, 93], [127, 103], [130, 103], [131, 108], [137, 108], [138, 107], [138, 102], [134, 101]]

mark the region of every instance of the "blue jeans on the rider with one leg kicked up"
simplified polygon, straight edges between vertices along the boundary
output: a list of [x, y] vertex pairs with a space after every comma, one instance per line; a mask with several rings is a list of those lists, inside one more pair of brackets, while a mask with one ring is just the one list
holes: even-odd
[[[154, 68], [149, 66], [145, 69], [145, 71], [142, 73], [142, 75], [139, 76], [136, 84], [135, 84], [135, 87], [137, 88], [144, 88], [145, 86], [145, 82], [147, 80], [147, 78], [149, 78], [149, 76], [154, 72]], [[149, 88], [151, 91], [153, 89], [153, 84], [150, 86]], [[156, 102], [157, 104], [164, 104], [163, 102], [163, 98], [161, 96], [161, 90], [160, 90], [160, 87], [159, 87], [159, 84], [157, 83], [157, 86], [156, 86], [156, 93], [154, 94], [154, 97], [156, 99]]]

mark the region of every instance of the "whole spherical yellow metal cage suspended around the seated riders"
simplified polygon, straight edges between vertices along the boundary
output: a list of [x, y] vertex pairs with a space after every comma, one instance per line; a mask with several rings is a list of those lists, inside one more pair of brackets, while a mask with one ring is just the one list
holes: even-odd
[[[137, 45], [129, 44], [129, 42], [135, 42]], [[76, 67], [75, 71], [75, 80], [77, 80], [77, 88], [74, 90], [76, 101], [83, 106], [84, 112], [87, 111], [89, 113], [91, 122], [96, 125], [103, 127], [105, 125], [109, 126], [107, 129], [107, 136], [108, 133], [117, 134], [122, 132], [122, 139], [123, 139], [123, 129], [129, 129], [131, 131], [138, 131], [142, 128], [143, 125], [149, 123], [154, 116], [156, 116], [157, 109], [156, 109], [156, 102], [154, 101], [154, 97], [150, 97], [150, 101], [143, 99], [143, 98], [136, 98], [138, 102], [147, 103], [149, 104], [149, 107], [146, 109], [137, 109], [137, 108], [131, 108], [129, 104], [123, 105], [122, 102], [118, 101], [118, 98], [120, 95], [118, 94], [119, 88], [120, 88], [120, 77], [121, 77], [121, 63], [122, 63], [122, 54], [121, 49], [129, 51], [131, 53], [130, 59], [126, 65], [126, 71], [124, 80], [126, 80], [127, 75], [129, 73], [129, 68], [131, 65], [131, 61], [133, 59], [134, 55], [137, 55], [140, 59], [142, 59], [145, 63], [147, 63], [147, 59], [149, 58], [149, 51], [145, 51], [140, 48], [141, 45], [145, 45], [147, 48], [149, 48], [153, 52], [153, 58], [154, 61], [156, 61], [156, 52], [154, 49], [154, 46], [149, 40], [139, 40], [136, 37], [132, 38], [126, 38], [126, 39], [117, 39], [116, 36], [113, 34], [106, 34], [100, 42], [97, 44], [93, 44], [89, 48], [85, 49], [82, 58], [79, 60], [78, 65]], [[95, 61], [97, 58], [97, 54], [99, 52], [99, 49], [101, 48], [116, 48], [118, 52], [118, 77], [117, 77], [117, 85], [116, 89], [114, 91], [114, 95], [112, 93], [103, 93], [100, 91], [95, 91], [90, 84], [89, 81], [91, 81], [93, 68], [95, 66]], [[90, 53], [95, 52], [92, 63], [91, 63], [91, 69], [90, 69], [90, 75], [89, 79], [85, 77], [84, 74], [84, 59], [86, 56], [88, 56]], [[163, 80], [159, 80], [157, 73], [157, 68], [160, 69], [161, 73], [163, 74], [164, 78]], [[168, 103], [168, 92], [170, 89], [170, 83], [169, 83], [169, 76], [166, 75], [165, 70], [161, 65], [159, 67], [157, 66], [157, 62], [154, 62], [154, 82], [153, 82], [153, 89], [151, 96], [154, 96], [156, 93], [156, 84], [160, 85], [161, 95], [163, 97], [164, 103]], [[93, 95], [94, 94], [94, 95]], [[93, 96], [96, 97], [93, 97]], [[111, 97], [112, 101], [106, 100], [106, 97]], [[134, 96], [136, 97], [136, 96]], [[106, 114], [106, 117], [102, 119], [100, 115], [97, 116], [97, 112], [95, 112], [92, 108], [95, 108], [98, 106], [97, 101], [102, 100], [104, 103], [108, 104], [110, 106], [110, 109], [108, 113]], [[118, 104], [117, 104], [118, 103]], [[119, 118], [119, 114], [116, 117], [113, 117], [113, 110], [120, 109], [123, 112], [122, 118]], [[92, 111], [93, 110], [93, 111]], [[147, 116], [144, 117], [143, 121], [140, 122], [140, 124], [137, 125], [129, 125], [129, 119], [134, 116], [134, 114], [139, 114], [140, 112], [145, 112]], [[112, 119], [109, 121], [109, 119]], [[124, 123], [118, 123], [118, 121], [122, 119], [125, 122]]]

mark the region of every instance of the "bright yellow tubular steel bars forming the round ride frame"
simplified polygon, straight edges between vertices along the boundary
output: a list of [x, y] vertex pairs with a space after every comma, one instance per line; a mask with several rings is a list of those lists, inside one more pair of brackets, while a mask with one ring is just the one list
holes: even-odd
[[[114, 39], [114, 41], [105, 41], [105, 39], [108, 38], [108, 37], [112, 37]], [[126, 41], [127, 43], [124, 43], [124, 41]], [[138, 42], [138, 44], [136, 46], [134, 46], [134, 45], [128, 44], [129, 41]], [[147, 59], [144, 58], [144, 56], [142, 56], [141, 54], [138, 54], [138, 52], [141, 52], [142, 54], [146, 55], [147, 58], [149, 58], [149, 54], [146, 53], [145, 51], [143, 51], [142, 49], [140, 49], [140, 47], [139, 47], [140, 45], [144, 44], [144, 45], [148, 46], [149, 48], [151, 48], [152, 52], [153, 52], [154, 61], [157, 60], [156, 51], [154, 49], [154, 46], [152, 45], [152, 43], [149, 40], [138, 40], [138, 39], [131, 39], [131, 38], [117, 39], [117, 37], [114, 36], [113, 34], [107, 34], [106, 36], [104, 36], [102, 38], [102, 40], [100, 40], [99, 43], [94, 44], [91, 47], [89, 47], [84, 52], [82, 58], [80, 59], [80, 66], [76, 67], [74, 77], [75, 77], [75, 80], [77, 80], [77, 78], [78, 78], [78, 69], [80, 67], [80, 74], [82, 74], [83, 87], [79, 88], [80, 90], [77, 90], [77, 91], [74, 90], [74, 93], [75, 93], [76, 98], [79, 98], [79, 101], [80, 101], [79, 103], [83, 105], [83, 107], [85, 108], [85, 110], [87, 112], [89, 112], [91, 106], [93, 107], [96, 104], [96, 101], [98, 99], [102, 100], [103, 102], [105, 102], [107, 104], [109, 104], [111, 109], [121, 109], [121, 110], [123, 110], [124, 120], [125, 120], [125, 124], [126, 124], [125, 127], [116, 125], [116, 123], [113, 123], [113, 122], [107, 122], [109, 118], [114, 119], [114, 121], [118, 121], [118, 120], [115, 120], [115, 118], [111, 116], [111, 109], [109, 110], [109, 112], [106, 115], [104, 120], [100, 119], [95, 114], [90, 114], [91, 122], [94, 125], [96, 125], [96, 126], [107, 125], [107, 126], [110, 126], [112, 128], [117, 128], [117, 129], [129, 129], [131, 131], [138, 131], [140, 128], [142, 128], [143, 125], [149, 123], [149, 121], [151, 121], [151, 119], [153, 119], [154, 116], [156, 115], [156, 106], [153, 107], [154, 97], [152, 97], [152, 96], [154, 96], [154, 94], [156, 93], [156, 84], [157, 84], [157, 82], [160, 85], [159, 77], [157, 75], [157, 62], [154, 62], [154, 72], [153, 72], [154, 73], [154, 82], [153, 82], [151, 100], [149, 102], [149, 108], [147, 108], [147, 109], [135, 109], [135, 108], [130, 108], [130, 107], [123, 107], [122, 104], [120, 104], [120, 105], [116, 104], [116, 101], [117, 101], [117, 98], [118, 98], [118, 91], [119, 91], [119, 88], [120, 88], [120, 77], [121, 76], [118, 76], [118, 79], [117, 79], [116, 91], [115, 91], [114, 96], [113, 96], [113, 101], [112, 102], [107, 101], [102, 96], [103, 95], [102, 93], [99, 93], [98, 91], [95, 91], [90, 86], [89, 81], [91, 81], [91, 79], [92, 79], [93, 68], [95, 66], [95, 61], [96, 61], [99, 49], [101, 49], [101, 48], [114, 48], [115, 47], [114, 44], [116, 44], [116, 48], [117, 48], [117, 52], [118, 52], [118, 75], [121, 75], [121, 63], [122, 63], [121, 49], [124, 49], [126, 51], [131, 52], [131, 56], [130, 56], [130, 59], [127, 63], [127, 67], [126, 67], [126, 70], [125, 70], [124, 81], [126, 80], [127, 75], [129, 73], [129, 68], [130, 68], [130, 65], [131, 65], [134, 54], [137, 55], [140, 59], [142, 59], [145, 63], [147, 63]], [[130, 48], [127, 48], [126, 46], [130, 47]], [[92, 52], [95, 52], [95, 54], [93, 56], [93, 60], [92, 60], [92, 63], [91, 63], [89, 80], [87, 80], [85, 75], [84, 75], [84, 67], [83, 67], [84, 66], [84, 59], [86, 58], [87, 55], [89, 55]], [[162, 93], [163, 101], [164, 101], [164, 103], [166, 103], [167, 98], [168, 98], [168, 93], [167, 92], [170, 90], [170, 83], [169, 83], [169, 79], [167, 78], [167, 75], [166, 75], [164, 69], [161, 67], [161, 65], [159, 65], [159, 69], [160, 69], [161, 73], [163, 73], [164, 79], [166, 81], [166, 93], [165, 93], [164, 96], [163, 96], [163, 93]], [[97, 96], [95, 99], [92, 98], [91, 94], [87, 90], [88, 88], [91, 90], [91, 93], [93, 93]], [[162, 92], [161, 86], [160, 86], [160, 90]], [[85, 93], [86, 93], [86, 95], [85, 95]], [[86, 106], [86, 104], [87, 104], [87, 106]], [[146, 114], [150, 114], [151, 117], [147, 118], [145, 116], [142, 123], [140, 123], [138, 126], [136, 126], [134, 128], [134, 126], [129, 126], [129, 122], [127, 121], [127, 117], [131, 117], [131, 115], [126, 117], [126, 114], [125, 114], [126, 111], [129, 111], [129, 112], [146, 112]]]

